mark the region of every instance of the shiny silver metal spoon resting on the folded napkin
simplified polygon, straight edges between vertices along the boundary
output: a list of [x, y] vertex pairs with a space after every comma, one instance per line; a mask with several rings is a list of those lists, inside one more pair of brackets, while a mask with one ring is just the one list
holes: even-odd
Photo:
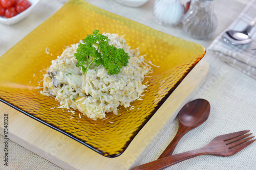
[[222, 39], [233, 45], [248, 44], [252, 41], [250, 30], [255, 25], [256, 18], [249, 22], [248, 26], [242, 31], [229, 30], [222, 35]]

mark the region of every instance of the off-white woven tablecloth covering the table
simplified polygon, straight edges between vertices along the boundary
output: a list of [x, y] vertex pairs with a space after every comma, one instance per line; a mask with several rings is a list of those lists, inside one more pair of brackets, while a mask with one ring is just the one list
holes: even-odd
[[[41, 1], [33, 15], [22, 22], [13, 26], [0, 25], [0, 56], [56, 12], [64, 2], [66, 1]], [[215, 0], [218, 28], [216, 33], [206, 40], [189, 37], [181, 27], [158, 25], [153, 20], [152, 14], [154, 0], [148, 1], [140, 8], [124, 7], [113, 0], [88, 0], [88, 2], [167, 34], [197, 42], [207, 48], [239, 16], [249, 0]], [[256, 81], [219, 60], [215, 54], [206, 52], [204, 60], [210, 65], [209, 75], [194, 99], [203, 98], [209, 101], [210, 116], [203, 125], [191, 130], [180, 140], [174, 154], [201, 148], [212, 138], [226, 133], [249, 129], [254, 135], [256, 134]], [[173, 139], [177, 130], [178, 119], [176, 118], [141, 164], [157, 159]], [[3, 143], [1, 135], [0, 143]], [[1, 144], [0, 155], [3, 155]], [[11, 149], [9, 169], [61, 169], [14, 142], [9, 142], [9, 144]], [[256, 169], [255, 151], [256, 143], [252, 143], [242, 152], [231, 157], [199, 156], [167, 169]], [[4, 169], [2, 158], [0, 160], [0, 169]]]

